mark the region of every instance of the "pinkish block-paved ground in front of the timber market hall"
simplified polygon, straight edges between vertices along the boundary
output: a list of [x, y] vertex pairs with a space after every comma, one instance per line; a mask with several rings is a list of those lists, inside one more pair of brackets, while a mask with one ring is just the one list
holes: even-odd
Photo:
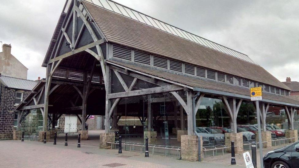
[[64, 142], [53, 145], [53, 142], [4, 140], [0, 141], [0, 167], [244, 167], [220, 162], [187, 162], [159, 155], [145, 158], [139, 152], [117, 153], [117, 150], [99, 149], [93, 145], [82, 144], [77, 148], [77, 144], [65, 147]]

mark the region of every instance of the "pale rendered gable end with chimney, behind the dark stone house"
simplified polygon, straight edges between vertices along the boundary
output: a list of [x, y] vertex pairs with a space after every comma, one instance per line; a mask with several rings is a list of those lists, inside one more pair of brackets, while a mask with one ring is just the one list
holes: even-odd
[[11, 54], [11, 45], [3, 44], [0, 52], [0, 74], [27, 79], [27, 68]]

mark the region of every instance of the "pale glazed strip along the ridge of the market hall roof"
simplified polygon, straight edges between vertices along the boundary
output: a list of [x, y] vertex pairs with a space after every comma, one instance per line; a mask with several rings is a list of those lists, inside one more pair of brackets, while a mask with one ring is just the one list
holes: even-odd
[[[135, 9], [132, 9], [132, 8], [130, 8], [130, 7], [127, 7], [127, 6], [124, 6], [124, 5], [122, 5], [122, 4], [119, 4], [119, 3], [117, 3], [117, 2], [114, 2], [114, 1], [112, 1], [112, 0], [107, 0], [107, 1], [110, 1], [110, 2], [112, 2], [112, 3], [114, 3], [114, 4], [118, 4], [119, 6], [122, 6], [123, 8], [125, 7], [125, 8], [127, 8], [127, 9], [129, 9], [129, 10], [132, 10], [132, 11], [138, 13], [139, 16], [140, 16], [140, 14], [142, 14], [142, 15], [146, 16], [146, 19], [147, 19], [148, 21], [149, 21], [149, 19], [148, 19], [147, 17], [151, 18], [151, 20], [152, 20], [152, 21], [157, 25], [157, 27], [159, 27], [159, 28], [157, 28], [156, 26], [154, 26], [154, 24], [153, 24], [151, 21], [149, 21], [149, 23], [152, 24], [152, 25], [147, 24], [147, 22], [146, 22], [146, 21], [144, 20], [144, 18], [142, 18], [141, 16], [140, 16], [140, 18], [141, 18], [145, 23], [142, 22], [142, 21], [139, 21], [138, 17], [136, 17], [136, 15], [135, 15], [132, 11], [131, 11], [131, 12], [132, 12], [133, 15], [137, 18], [137, 20], [134, 19], [134, 18], [132, 18], [132, 17], [130, 16], [130, 14], [129, 14], [126, 10], [125, 10], [125, 11], [127, 12], [127, 14], [128, 14], [130, 17], [124, 15], [124, 14], [121, 12], [121, 10], [118, 8], [118, 6], [116, 6], [116, 5], [115, 5], [115, 6], [116, 6], [117, 9], [120, 11], [120, 13], [115, 12], [114, 9], [112, 8], [112, 6], [111, 6], [108, 2], [107, 2], [107, 3], [108, 3], [108, 5], [110, 6], [110, 8], [111, 8], [112, 10], [105, 8], [104, 5], [101, 3], [100, 0], [98, 0], [98, 2], [100, 2], [100, 4], [101, 4], [102, 6], [99, 6], [99, 5], [95, 4], [95, 3], [88, 2], [88, 1], [86, 1], [86, 0], [83, 0], [83, 1], [84, 1], [84, 2], [87, 2], [87, 3], [89, 3], [89, 4], [92, 4], [92, 5], [98, 6], [98, 7], [100, 7], [100, 8], [103, 8], [103, 9], [105, 9], [105, 10], [108, 10], [108, 11], [111, 11], [111, 12], [114, 12], [114, 13], [117, 13], [117, 14], [119, 14], [119, 15], [121, 15], [121, 16], [130, 18], [130, 19], [132, 19], [132, 20], [134, 20], [134, 21], [138, 21], [138, 22], [140, 22], [140, 23], [146, 24], [147, 26], [151, 26], [151, 27], [156, 28], [156, 29], [158, 29], [158, 30], [160, 30], [160, 31], [167, 32], [167, 33], [169, 33], [169, 34], [171, 34], [171, 35], [180, 37], [180, 38], [182, 38], [182, 39], [186, 39], [186, 40], [188, 40], [188, 41], [191, 41], [191, 42], [193, 42], [193, 43], [196, 43], [197, 45], [201, 45], [201, 46], [203, 46], [203, 47], [207, 47], [207, 48], [216, 50], [216, 51], [218, 51], [218, 52], [227, 54], [227, 55], [229, 55], [229, 56], [238, 58], [238, 59], [240, 59], [240, 60], [249, 62], [249, 63], [251, 63], [251, 64], [258, 65], [258, 64], [257, 64], [256, 62], [254, 62], [254, 61], [253, 61], [247, 54], [241, 53], [241, 52], [239, 52], [239, 51], [237, 51], [237, 50], [234, 50], [234, 49], [231, 49], [231, 48], [229, 48], [229, 47], [225, 47], [225, 46], [223, 46], [223, 45], [221, 45], [221, 44], [218, 44], [218, 43], [213, 42], [213, 41], [211, 41], [211, 40], [209, 40], [209, 39], [203, 38], [203, 37], [201, 37], [201, 36], [199, 36], [199, 35], [196, 35], [196, 34], [194, 34], [194, 33], [185, 31], [185, 30], [183, 30], [183, 29], [181, 29], [181, 28], [178, 28], [178, 27], [176, 27], [176, 26], [173, 26], [173, 25], [171, 25], [171, 24], [168, 24], [168, 23], [166, 23], [166, 22], [164, 22], [164, 21], [161, 21], [161, 20], [159, 20], [159, 19], [156, 19], [156, 18], [154, 18], [154, 17], [151, 17], [151, 16], [149, 16], [149, 15], [147, 15], [147, 14], [144, 14], [144, 13], [142, 13], [142, 12], [138, 12], [138, 11], [135, 10]], [[156, 21], [154, 21], [154, 20], [158, 21], [158, 23], [161, 22], [161, 23], [165, 24], [165, 27], [169, 30], [169, 32], [166, 30], [166, 28], [165, 28], [161, 23], [159, 23], [160, 26], [162, 26], [162, 28], [163, 28], [164, 30], [161, 29], [160, 26], [159, 26], [159, 25], [156, 23]], [[170, 28], [172, 29], [172, 31], [171, 31], [170, 28], [168, 28], [168, 26], [166, 26], [166, 25], [170, 26]], [[175, 31], [175, 29], [173, 29], [172, 27], [175, 28], [175, 29], [179, 29], [182, 33], [181, 33], [180, 31], [178, 31], [178, 30]], [[172, 32], [172, 33], [170, 33], [170, 32]], [[175, 32], [177, 35], [174, 34], [173, 32]], [[185, 32], [186, 34], [185, 34], [184, 32]], [[189, 33], [190, 35], [188, 35], [188, 33]], [[180, 36], [179, 34], [180, 34], [181, 36]], [[182, 34], [183, 34], [183, 35], [182, 35]], [[192, 36], [192, 35], [193, 35], [193, 36]], [[182, 36], [183, 36], [183, 37], [182, 37]], [[186, 36], [186, 37], [184, 37], [184, 36]], [[189, 36], [189, 37], [188, 37], [188, 36]], [[194, 36], [196, 36], [197, 39], [195, 39]], [[189, 39], [189, 38], [190, 38], [190, 39]], [[199, 38], [200, 38], [202, 41], [201, 41]], [[200, 43], [199, 43], [198, 41], [200, 41]], [[202, 44], [201, 44], [201, 43], [202, 43]], [[212, 44], [209, 44], [209, 43], [212, 43]], [[214, 46], [213, 46], [213, 45], [214, 45]], [[210, 46], [210, 47], [209, 47], [209, 46]], [[224, 48], [221, 48], [221, 47], [224, 47]], [[237, 53], [233, 53], [233, 52], [237, 52]], [[233, 53], [233, 54], [232, 54], [232, 53]], [[234, 55], [234, 54], [235, 54], [235, 55]], [[242, 55], [244, 55], [244, 56], [242, 56]], [[244, 58], [244, 57], [245, 57], [245, 58]], [[246, 59], [246, 58], [247, 58], [247, 59]], [[260, 65], [258, 65], [258, 66], [260, 66]]]

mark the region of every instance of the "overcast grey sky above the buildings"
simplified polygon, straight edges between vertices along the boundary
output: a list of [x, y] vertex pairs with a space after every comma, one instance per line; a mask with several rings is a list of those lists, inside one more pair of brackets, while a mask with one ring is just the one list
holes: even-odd
[[[247, 54], [280, 81], [299, 81], [299, 1], [116, 2]], [[45, 77], [41, 64], [63, 6], [63, 0], [1, 0], [0, 41], [11, 43], [28, 79]]]

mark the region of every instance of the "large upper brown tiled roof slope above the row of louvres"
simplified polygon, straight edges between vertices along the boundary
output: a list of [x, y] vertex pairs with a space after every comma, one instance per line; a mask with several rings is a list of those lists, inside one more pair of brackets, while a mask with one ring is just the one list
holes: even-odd
[[290, 90], [263, 67], [82, 1], [108, 42]]

